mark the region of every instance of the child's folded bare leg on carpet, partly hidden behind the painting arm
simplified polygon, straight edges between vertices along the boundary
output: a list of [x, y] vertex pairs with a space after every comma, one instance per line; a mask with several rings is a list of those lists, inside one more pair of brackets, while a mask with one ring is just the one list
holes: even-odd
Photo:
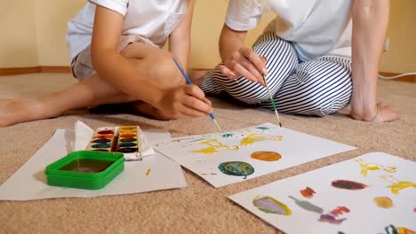
[[[172, 62], [169, 53], [144, 43], [132, 43], [121, 54], [128, 58], [136, 69], [157, 79], [165, 87], [176, 87], [185, 81]], [[39, 99], [0, 100], [0, 127], [19, 122], [36, 121], [60, 116], [65, 111], [102, 104], [140, 101], [100, 79], [97, 74], [76, 83], [67, 90], [51, 93]], [[163, 113], [151, 105], [137, 102], [139, 112], [165, 119]]]

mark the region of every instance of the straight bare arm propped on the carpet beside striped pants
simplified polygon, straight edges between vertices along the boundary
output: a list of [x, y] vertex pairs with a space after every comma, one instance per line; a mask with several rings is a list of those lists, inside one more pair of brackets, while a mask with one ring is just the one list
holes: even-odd
[[377, 78], [388, 29], [388, 0], [355, 0], [352, 8], [351, 116], [361, 121], [394, 121], [399, 114], [377, 104]]

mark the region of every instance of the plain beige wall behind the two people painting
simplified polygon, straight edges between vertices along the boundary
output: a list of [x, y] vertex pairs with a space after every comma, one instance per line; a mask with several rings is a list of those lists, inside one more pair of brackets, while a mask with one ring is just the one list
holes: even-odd
[[[65, 41], [67, 21], [86, 0], [3, 1], [0, 8], [0, 67], [68, 66]], [[190, 67], [212, 68], [220, 62], [218, 38], [227, 11], [227, 0], [197, 0], [192, 26]], [[388, 31], [390, 51], [384, 54], [380, 70], [392, 73], [416, 71], [416, 1], [391, 1]], [[271, 20], [266, 15], [260, 27], [247, 35], [247, 45]]]

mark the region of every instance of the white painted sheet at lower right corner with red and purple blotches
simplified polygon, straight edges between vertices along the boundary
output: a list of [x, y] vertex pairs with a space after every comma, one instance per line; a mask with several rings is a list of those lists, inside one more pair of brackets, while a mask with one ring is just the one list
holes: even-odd
[[[362, 160], [364, 168], [360, 166], [359, 160]], [[394, 225], [397, 230], [402, 228], [403, 232], [396, 233], [411, 233], [404, 232], [403, 228], [416, 230], [415, 172], [416, 162], [383, 152], [372, 152], [353, 160], [243, 191], [230, 196], [229, 199], [287, 233], [395, 233], [391, 229], [388, 233], [385, 231], [389, 225]], [[332, 185], [336, 180], [364, 183], [367, 187], [362, 190], [340, 189]], [[402, 186], [389, 187], [395, 183]], [[315, 191], [314, 193], [309, 190], [308, 194], [312, 195], [311, 198], [303, 197], [300, 193], [307, 187]], [[398, 190], [396, 191], [395, 188]], [[292, 214], [261, 211], [254, 206], [254, 203], [263, 208], [274, 204], [270, 202], [271, 199], [261, 199], [263, 196], [269, 196], [283, 203]], [[254, 201], [256, 197], [258, 199]], [[377, 205], [376, 200], [381, 207]], [[321, 214], [331, 215], [337, 220], [345, 220], [340, 224], [320, 222], [318, 220], [321, 214], [317, 213], [318, 209], [310, 204], [321, 207], [323, 209]], [[315, 212], [299, 205], [308, 206]], [[272, 207], [277, 211], [275, 205]], [[340, 207], [347, 207], [349, 212]], [[334, 210], [335, 212], [331, 214]]]

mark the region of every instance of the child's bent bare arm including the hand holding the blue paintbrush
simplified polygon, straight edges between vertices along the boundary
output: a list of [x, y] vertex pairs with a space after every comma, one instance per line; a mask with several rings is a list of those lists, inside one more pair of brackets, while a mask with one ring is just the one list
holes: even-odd
[[[102, 79], [117, 90], [155, 106], [169, 119], [200, 117], [212, 112], [211, 102], [197, 87], [166, 88], [148, 77], [116, 51], [123, 16], [97, 5], [92, 32], [92, 64]], [[173, 61], [172, 61], [173, 63]]]

